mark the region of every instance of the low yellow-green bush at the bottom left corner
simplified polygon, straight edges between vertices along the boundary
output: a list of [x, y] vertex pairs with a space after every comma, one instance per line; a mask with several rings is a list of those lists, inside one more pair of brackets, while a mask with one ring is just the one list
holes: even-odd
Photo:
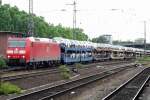
[[16, 85], [13, 85], [9, 82], [6, 82], [6, 83], [1, 83], [0, 85], [0, 94], [12, 94], [12, 93], [21, 93], [21, 89], [16, 86]]

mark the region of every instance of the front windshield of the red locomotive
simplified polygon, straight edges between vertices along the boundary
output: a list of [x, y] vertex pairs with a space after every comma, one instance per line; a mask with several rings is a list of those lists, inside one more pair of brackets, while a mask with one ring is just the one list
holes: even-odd
[[10, 40], [10, 41], [8, 41], [8, 47], [25, 47], [25, 41]]

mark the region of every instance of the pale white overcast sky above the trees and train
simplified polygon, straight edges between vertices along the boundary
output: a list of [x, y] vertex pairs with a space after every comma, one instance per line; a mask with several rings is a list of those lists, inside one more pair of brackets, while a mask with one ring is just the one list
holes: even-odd
[[[49, 23], [72, 27], [73, 0], [33, 0], [34, 13]], [[3, 0], [28, 12], [28, 0]], [[90, 37], [111, 34], [114, 40], [134, 40], [144, 37], [147, 21], [147, 41], [150, 42], [149, 0], [77, 0], [77, 27]], [[66, 9], [65, 12], [60, 11]], [[111, 10], [118, 9], [118, 10]]]

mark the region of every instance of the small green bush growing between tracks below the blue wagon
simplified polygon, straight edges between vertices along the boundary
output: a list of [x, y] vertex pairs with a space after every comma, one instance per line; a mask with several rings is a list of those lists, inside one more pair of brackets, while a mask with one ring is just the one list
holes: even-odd
[[70, 69], [67, 68], [65, 65], [61, 65], [59, 67], [59, 71], [60, 71], [60, 75], [64, 78], [64, 79], [69, 79], [70, 78]]

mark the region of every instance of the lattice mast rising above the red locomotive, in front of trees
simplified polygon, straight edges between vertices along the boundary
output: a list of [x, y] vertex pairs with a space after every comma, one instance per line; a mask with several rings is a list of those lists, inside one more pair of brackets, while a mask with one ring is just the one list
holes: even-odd
[[34, 36], [33, 0], [29, 0], [28, 35], [29, 35], [29, 36]]

